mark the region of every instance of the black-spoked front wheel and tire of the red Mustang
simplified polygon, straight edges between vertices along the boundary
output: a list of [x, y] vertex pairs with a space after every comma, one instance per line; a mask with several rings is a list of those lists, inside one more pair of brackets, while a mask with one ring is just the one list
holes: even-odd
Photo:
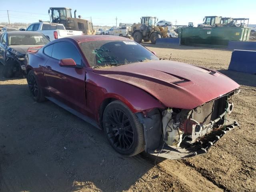
[[134, 156], [144, 150], [142, 124], [123, 102], [116, 100], [106, 106], [103, 128], [108, 141], [118, 153]]

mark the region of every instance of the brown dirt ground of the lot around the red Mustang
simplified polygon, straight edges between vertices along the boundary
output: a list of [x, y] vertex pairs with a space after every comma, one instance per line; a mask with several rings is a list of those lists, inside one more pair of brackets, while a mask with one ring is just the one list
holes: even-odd
[[144, 46], [238, 82], [231, 116], [240, 127], [205, 155], [154, 166], [154, 156], [123, 157], [102, 131], [52, 102], [34, 102], [26, 80], [2, 78], [0, 66], [0, 192], [256, 191], [256, 75], [228, 71], [230, 51]]

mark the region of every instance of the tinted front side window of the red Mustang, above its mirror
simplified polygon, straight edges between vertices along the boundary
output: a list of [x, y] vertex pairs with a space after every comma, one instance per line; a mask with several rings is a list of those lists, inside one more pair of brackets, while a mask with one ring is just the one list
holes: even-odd
[[70, 42], [55, 43], [52, 57], [58, 60], [72, 58], [77, 65], [81, 65], [81, 56], [76, 47]]

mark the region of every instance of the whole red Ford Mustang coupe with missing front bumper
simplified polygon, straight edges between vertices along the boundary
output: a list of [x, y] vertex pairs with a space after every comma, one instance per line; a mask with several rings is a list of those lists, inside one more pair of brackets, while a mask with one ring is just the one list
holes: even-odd
[[104, 129], [113, 148], [170, 159], [208, 151], [237, 126], [239, 85], [223, 74], [161, 60], [117, 36], [70, 36], [26, 55], [34, 100], [46, 98]]

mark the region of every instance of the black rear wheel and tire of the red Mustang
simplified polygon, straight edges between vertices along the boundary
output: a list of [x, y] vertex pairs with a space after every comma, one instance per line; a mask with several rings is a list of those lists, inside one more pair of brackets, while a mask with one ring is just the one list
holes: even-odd
[[44, 97], [43, 90], [40, 87], [38, 78], [35, 75], [33, 70], [30, 70], [28, 72], [27, 82], [28, 82], [28, 88], [30, 90], [30, 93], [32, 94], [33, 99], [36, 102], [43, 102], [43, 101], [45, 101], [46, 98]]

